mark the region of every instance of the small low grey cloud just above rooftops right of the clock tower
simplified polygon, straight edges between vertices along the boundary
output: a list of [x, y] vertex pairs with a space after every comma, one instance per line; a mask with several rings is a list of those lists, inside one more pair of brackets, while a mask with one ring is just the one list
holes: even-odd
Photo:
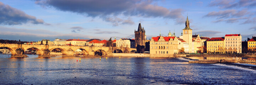
[[199, 31], [199, 32], [195, 32], [199, 35], [203, 35], [203, 36], [208, 36], [208, 37], [214, 37], [214, 36], [218, 36], [218, 33], [221, 33], [219, 31], [211, 31], [211, 30], [204, 30], [204, 31]]

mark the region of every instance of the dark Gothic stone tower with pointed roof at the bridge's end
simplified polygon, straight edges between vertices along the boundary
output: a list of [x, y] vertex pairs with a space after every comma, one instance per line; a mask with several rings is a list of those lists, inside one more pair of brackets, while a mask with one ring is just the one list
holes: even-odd
[[[141, 23], [139, 23], [138, 30], [134, 30], [135, 33], [135, 48], [137, 48], [137, 52], [141, 52], [142, 49], [145, 49], [145, 29], [141, 26]], [[143, 50], [144, 51], [144, 50]]]

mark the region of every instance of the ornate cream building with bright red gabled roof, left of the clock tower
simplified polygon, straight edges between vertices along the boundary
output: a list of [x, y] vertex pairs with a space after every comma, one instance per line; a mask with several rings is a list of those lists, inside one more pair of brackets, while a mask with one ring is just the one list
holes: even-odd
[[157, 36], [150, 40], [150, 56], [173, 57], [178, 53], [178, 38], [176, 36]]

